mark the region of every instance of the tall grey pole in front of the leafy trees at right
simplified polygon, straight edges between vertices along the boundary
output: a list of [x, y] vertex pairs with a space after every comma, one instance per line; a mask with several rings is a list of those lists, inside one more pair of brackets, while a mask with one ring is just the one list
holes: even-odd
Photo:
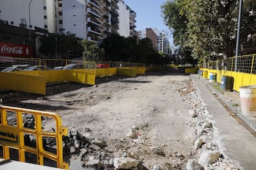
[[239, 14], [238, 14], [238, 25], [237, 25], [237, 35], [236, 35], [236, 50], [235, 50], [235, 72], [237, 71], [237, 56], [240, 53], [240, 32], [241, 32], [241, 19], [243, 12], [243, 0], [240, 0], [239, 4]]

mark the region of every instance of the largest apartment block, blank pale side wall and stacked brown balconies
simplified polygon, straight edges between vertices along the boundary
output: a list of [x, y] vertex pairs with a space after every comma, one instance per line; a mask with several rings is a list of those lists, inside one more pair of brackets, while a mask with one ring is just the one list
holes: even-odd
[[118, 0], [62, 0], [63, 32], [101, 42], [119, 29]]

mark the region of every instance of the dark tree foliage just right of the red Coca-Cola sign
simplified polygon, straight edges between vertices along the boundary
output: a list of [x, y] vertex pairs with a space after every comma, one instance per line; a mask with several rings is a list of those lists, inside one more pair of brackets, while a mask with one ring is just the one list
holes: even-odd
[[74, 34], [48, 34], [40, 37], [40, 53], [48, 58], [55, 58], [55, 47], [57, 45], [57, 58], [73, 59], [82, 56], [82, 46], [79, 44], [80, 38]]

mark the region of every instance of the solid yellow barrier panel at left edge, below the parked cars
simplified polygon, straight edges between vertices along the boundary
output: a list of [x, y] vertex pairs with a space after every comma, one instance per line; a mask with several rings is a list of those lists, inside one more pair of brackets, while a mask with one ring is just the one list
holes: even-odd
[[44, 77], [0, 72], [0, 79], [0, 89], [46, 94], [46, 80]]

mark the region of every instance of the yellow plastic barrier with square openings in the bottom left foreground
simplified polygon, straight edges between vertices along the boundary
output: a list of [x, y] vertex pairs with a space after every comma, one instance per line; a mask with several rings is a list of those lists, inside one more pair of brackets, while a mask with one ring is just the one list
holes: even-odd
[[[58, 114], [8, 106], [1, 106], [0, 110], [3, 158], [68, 169], [62, 153], [62, 136], [67, 135], [68, 129], [62, 127]], [[43, 128], [44, 119], [52, 120], [54, 131]], [[53, 141], [56, 148], [50, 147], [48, 141]]]

